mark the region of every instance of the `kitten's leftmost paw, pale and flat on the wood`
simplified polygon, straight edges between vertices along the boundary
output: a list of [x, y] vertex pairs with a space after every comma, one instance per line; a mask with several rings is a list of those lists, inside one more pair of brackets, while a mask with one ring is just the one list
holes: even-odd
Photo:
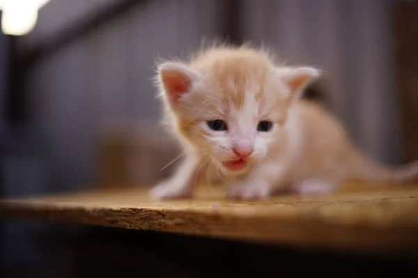
[[150, 190], [150, 197], [158, 200], [190, 198], [192, 195], [193, 189], [189, 186], [176, 186], [170, 181], [163, 181]]

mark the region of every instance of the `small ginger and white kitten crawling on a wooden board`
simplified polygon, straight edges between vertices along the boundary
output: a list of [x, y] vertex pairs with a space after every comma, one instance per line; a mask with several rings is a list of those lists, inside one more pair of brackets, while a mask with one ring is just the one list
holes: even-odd
[[395, 169], [372, 161], [332, 115], [300, 98], [318, 76], [312, 67], [276, 65], [250, 47], [213, 47], [189, 63], [160, 64], [165, 115], [185, 159], [152, 197], [192, 197], [209, 176], [231, 184], [228, 196], [237, 199], [330, 193], [346, 179], [417, 178], [418, 163]]

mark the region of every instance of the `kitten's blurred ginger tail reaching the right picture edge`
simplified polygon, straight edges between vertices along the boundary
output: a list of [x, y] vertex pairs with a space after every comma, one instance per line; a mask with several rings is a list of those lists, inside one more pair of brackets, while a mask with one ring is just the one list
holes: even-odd
[[362, 154], [357, 148], [350, 147], [348, 152], [348, 179], [383, 183], [418, 181], [418, 161], [398, 167], [382, 165]]

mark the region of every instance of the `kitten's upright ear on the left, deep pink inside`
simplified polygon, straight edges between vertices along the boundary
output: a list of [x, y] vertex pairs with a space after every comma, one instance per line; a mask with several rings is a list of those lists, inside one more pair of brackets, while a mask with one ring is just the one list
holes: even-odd
[[181, 63], [167, 62], [158, 67], [159, 81], [172, 103], [176, 103], [192, 90], [192, 86], [200, 79], [194, 70]]

